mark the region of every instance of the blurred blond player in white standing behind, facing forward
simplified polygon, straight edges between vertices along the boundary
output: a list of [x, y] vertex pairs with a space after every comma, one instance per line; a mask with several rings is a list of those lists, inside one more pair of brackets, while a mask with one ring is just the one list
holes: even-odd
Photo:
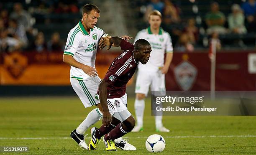
[[[143, 113], [145, 108], [145, 97], [148, 94], [149, 86], [151, 91], [159, 91], [160, 96], [165, 95], [165, 74], [169, 70], [172, 61], [173, 47], [169, 33], [161, 27], [161, 13], [157, 10], [148, 16], [149, 27], [139, 31], [134, 42], [138, 39], [146, 39], [152, 47], [151, 58], [146, 65], [138, 65], [136, 80], [136, 99], [134, 103], [137, 125], [132, 132], [143, 131]], [[164, 54], [166, 58], [164, 62]], [[156, 94], [154, 94], [156, 95]], [[155, 116], [157, 132], [169, 132], [162, 123], [162, 116]]]

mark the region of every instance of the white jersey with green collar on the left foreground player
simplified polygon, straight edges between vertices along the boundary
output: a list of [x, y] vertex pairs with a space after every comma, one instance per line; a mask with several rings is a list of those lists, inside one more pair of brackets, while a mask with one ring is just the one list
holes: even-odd
[[[96, 26], [90, 29], [90, 34], [79, 23], [69, 31], [64, 54], [73, 56], [74, 59], [84, 65], [95, 67], [97, 46], [100, 38], [107, 36], [104, 31]], [[70, 77], [78, 80], [86, 80], [90, 76], [82, 69], [71, 66]]]

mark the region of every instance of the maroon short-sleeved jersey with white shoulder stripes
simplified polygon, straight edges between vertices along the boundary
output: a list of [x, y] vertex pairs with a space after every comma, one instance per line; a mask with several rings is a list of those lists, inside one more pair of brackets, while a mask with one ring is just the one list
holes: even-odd
[[108, 99], [123, 97], [126, 84], [133, 76], [138, 65], [133, 56], [133, 44], [123, 40], [120, 47], [123, 53], [115, 58], [104, 77], [104, 80], [110, 84], [107, 88]]

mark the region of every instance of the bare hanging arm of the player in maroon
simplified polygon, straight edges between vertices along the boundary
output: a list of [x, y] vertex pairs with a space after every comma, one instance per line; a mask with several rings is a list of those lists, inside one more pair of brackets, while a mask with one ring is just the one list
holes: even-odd
[[104, 125], [104, 127], [106, 126], [108, 127], [111, 121], [111, 114], [108, 111], [108, 104], [107, 104], [107, 87], [109, 85], [110, 84], [106, 82], [104, 79], [102, 79], [99, 85], [100, 104], [103, 110], [102, 125]]

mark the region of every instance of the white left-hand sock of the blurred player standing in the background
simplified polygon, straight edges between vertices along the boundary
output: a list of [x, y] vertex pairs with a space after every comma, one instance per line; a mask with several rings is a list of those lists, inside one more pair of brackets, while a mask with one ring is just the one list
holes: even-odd
[[142, 100], [135, 99], [134, 108], [135, 108], [135, 114], [137, 119], [137, 125], [143, 127], [145, 99], [142, 99]]

